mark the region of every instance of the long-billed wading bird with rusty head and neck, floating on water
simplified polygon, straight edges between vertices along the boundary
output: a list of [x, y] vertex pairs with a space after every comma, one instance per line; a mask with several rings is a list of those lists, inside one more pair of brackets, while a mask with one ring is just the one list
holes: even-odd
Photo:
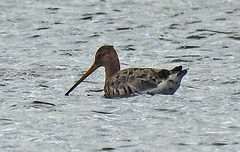
[[99, 67], [105, 68], [104, 96], [129, 97], [136, 94], [173, 95], [188, 69], [176, 66], [171, 70], [156, 68], [128, 68], [120, 70], [119, 58], [112, 45], [101, 46], [88, 71], [67, 91], [68, 96], [85, 78]]

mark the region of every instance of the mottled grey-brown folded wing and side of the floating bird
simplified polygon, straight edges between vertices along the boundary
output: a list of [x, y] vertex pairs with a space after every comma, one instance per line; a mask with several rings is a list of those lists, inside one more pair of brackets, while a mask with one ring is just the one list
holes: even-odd
[[119, 71], [104, 86], [106, 97], [130, 96], [156, 88], [172, 73], [166, 69], [131, 68]]

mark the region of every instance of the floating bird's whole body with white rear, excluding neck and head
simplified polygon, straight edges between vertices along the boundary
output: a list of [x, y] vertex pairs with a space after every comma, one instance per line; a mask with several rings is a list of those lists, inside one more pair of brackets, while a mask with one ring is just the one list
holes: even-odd
[[106, 80], [104, 86], [105, 97], [127, 97], [135, 93], [174, 94], [186, 73], [187, 71], [182, 70], [181, 66], [172, 70], [124, 69]]

